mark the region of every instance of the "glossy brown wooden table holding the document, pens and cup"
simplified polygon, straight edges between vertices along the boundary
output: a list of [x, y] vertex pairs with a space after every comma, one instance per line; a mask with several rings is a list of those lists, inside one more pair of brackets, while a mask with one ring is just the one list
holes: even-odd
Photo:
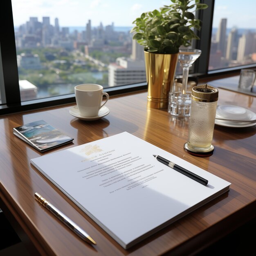
[[[256, 98], [245, 94], [220, 89], [218, 103], [239, 105], [256, 112]], [[167, 110], [149, 108], [146, 92], [111, 97], [107, 103], [110, 114], [97, 121], [72, 117], [69, 114], [72, 106], [74, 104], [0, 117], [0, 208], [31, 255], [194, 255], [255, 218], [256, 126], [215, 126], [214, 153], [200, 158], [183, 149], [188, 137], [188, 121], [175, 119]], [[230, 191], [125, 250], [31, 166], [31, 158], [47, 153], [40, 153], [15, 137], [12, 129], [40, 119], [74, 138], [73, 144], [48, 153], [127, 131], [231, 182]], [[38, 204], [35, 192], [85, 229], [97, 241], [97, 246], [83, 242]]]

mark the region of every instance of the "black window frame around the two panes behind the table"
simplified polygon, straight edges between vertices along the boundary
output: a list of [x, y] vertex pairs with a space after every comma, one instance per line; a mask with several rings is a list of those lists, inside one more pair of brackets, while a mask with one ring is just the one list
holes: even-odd
[[[225, 68], [223, 70], [208, 70], [214, 2], [214, 0], [201, 0], [201, 3], [208, 4], [208, 8], [198, 10], [196, 13], [197, 18], [202, 20], [202, 28], [198, 32], [200, 40], [196, 40], [195, 45], [193, 45], [193, 47], [202, 50], [200, 58], [194, 63], [193, 74], [198, 76], [198, 78], [209, 76], [210, 74], [238, 72], [241, 68], [245, 68], [245, 66], [240, 66]], [[1, 27], [0, 32], [0, 62], [2, 63], [2, 66], [0, 65], [0, 93], [2, 99], [0, 115], [74, 103], [74, 93], [31, 101], [21, 101], [11, 0], [0, 2], [0, 22], [0, 24], [4, 25]], [[250, 65], [249, 67], [256, 67], [256, 64]], [[104, 91], [112, 96], [146, 89], [147, 83], [145, 81], [144, 83], [105, 88]]]

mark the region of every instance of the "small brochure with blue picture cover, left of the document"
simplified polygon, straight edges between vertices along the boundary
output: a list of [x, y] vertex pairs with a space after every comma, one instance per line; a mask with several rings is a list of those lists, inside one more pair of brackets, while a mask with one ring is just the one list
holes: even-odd
[[40, 152], [72, 142], [74, 139], [49, 125], [44, 120], [13, 128], [13, 134]]

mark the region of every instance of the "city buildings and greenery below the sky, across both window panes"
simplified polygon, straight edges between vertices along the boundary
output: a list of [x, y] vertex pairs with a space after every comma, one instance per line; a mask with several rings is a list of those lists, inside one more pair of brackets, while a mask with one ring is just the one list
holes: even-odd
[[[115, 30], [111, 21], [111, 25], [100, 22], [95, 27], [93, 21], [87, 20], [80, 31], [79, 27], [61, 27], [59, 18], [44, 15], [30, 17], [17, 27], [19, 76], [36, 86], [33, 97], [67, 94], [81, 81], [106, 87], [145, 81], [143, 47], [121, 27]], [[209, 70], [252, 64], [256, 60], [255, 28], [228, 29], [228, 19], [223, 17], [218, 22], [211, 38]]]

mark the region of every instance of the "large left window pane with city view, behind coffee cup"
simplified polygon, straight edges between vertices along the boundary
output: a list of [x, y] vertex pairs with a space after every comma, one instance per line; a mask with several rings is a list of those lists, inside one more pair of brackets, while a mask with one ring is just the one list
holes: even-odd
[[[146, 81], [144, 49], [130, 30], [132, 21], [157, 3], [11, 2], [21, 101], [71, 94], [81, 83], [108, 88]], [[119, 73], [134, 76], [119, 78]]]

